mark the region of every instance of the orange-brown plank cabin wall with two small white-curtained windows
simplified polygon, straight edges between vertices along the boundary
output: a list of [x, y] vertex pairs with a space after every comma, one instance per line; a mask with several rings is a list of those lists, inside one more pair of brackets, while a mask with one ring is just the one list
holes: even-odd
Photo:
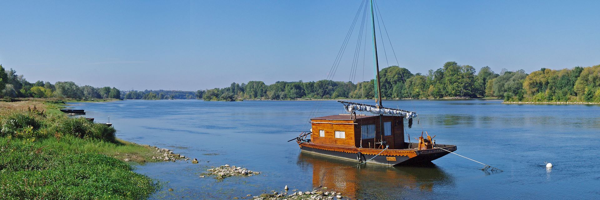
[[[355, 133], [352, 124], [325, 124], [325, 123], [353, 123], [352, 120], [311, 120], [313, 122], [324, 122], [323, 124], [313, 123], [313, 134], [311, 140], [317, 144], [335, 144], [355, 147]], [[319, 130], [325, 130], [325, 137], [319, 137]], [[335, 138], [335, 131], [346, 132], [346, 138]], [[360, 133], [359, 133], [360, 134]], [[360, 135], [359, 135], [360, 136]]]

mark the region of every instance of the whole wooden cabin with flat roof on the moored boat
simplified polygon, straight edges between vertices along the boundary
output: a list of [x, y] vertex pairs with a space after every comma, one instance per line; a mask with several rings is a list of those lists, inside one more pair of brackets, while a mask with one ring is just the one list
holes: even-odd
[[[381, 120], [380, 120], [381, 119]], [[404, 149], [404, 118], [400, 116], [329, 115], [311, 118], [311, 141], [314, 144], [343, 145], [347, 147]], [[383, 126], [383, 131], [380, 131]], [[362, 141], [361, 141], [362, 138]]]

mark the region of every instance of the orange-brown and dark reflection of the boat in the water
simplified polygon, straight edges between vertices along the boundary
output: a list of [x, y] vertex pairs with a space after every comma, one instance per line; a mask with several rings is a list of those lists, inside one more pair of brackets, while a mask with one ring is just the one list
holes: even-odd
[[424, 166], [370, 163], [355, 166], [358, 162], [301, 152], [298, 165], [313, 169], [313, 187], [327, 187], [318, 190], [341, 192], [343, 196], [357, 199], [418, 198], [433, 192], [436, 185], [454, 184], [451, 175], [433, 163]]

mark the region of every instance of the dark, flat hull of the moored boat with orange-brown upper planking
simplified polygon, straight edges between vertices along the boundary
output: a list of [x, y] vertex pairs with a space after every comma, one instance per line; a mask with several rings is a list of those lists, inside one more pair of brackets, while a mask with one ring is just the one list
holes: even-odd
[[[331, 147], [311, 143], [299, 144], [300, 150], [307, 153], [320, 154], [324, 156], [337, 157], [339, 159], [355, 160], [357, 163], [367, 161], [378, 165], [419, 165], [430, 163], [432, 160], [439, 159], [449, 154], [448, 151], [456, 151], [455, 145], [436, 145], [437, 148], [430, 150], [378, 150], [356, 147]], [[444, 151], [440, 148], [444, 148]], [[361, 157], [359, 158], [359, 153]], [[377, 156], [377, 153], [380, 153]], [[361, 159], [361, 160], [359, 160]]]

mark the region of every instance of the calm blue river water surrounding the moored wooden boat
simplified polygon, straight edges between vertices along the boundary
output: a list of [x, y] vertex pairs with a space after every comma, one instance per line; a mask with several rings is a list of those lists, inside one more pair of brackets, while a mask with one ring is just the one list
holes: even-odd
[[[356, 102], [373, 104], [372, 101]], [[151, 199], [232, 199], [284, 186], [322, 184], [355, 199], [599, 199], [600, 106], [503, 105], [499, 100], [389, 100], [416, 111], [411, 138], [425, 130], [438, 144], [503, 172], [449, 154], [432, 166], [388, 167], [301, 153], [293, 139], [308, 118], [343, 114], [335, 101], [125, 100], [74, 103], [86, 117], [110, 123], [118, 138], [169, 148], [200, 160], [134, 166], [160, 181]], [[311, 114], [319, 108], [317, 114]], [[553, 163], [551, 169], [544, 162]], [[206, 169], [235, 165], [253, 177], [199, 178]], [[173, 189], [169, 192], [168, 189]]]

